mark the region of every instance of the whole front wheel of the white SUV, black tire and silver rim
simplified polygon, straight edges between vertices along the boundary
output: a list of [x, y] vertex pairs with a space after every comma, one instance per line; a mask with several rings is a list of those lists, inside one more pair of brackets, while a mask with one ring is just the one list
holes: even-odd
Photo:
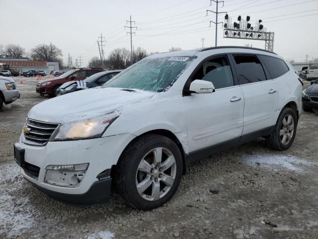
[[171, 139], [141, 136], [125, 149], [117, 164], [119, 195], [135, 208], [158, 208], [177, 191], [182, 168], [180, 149]]

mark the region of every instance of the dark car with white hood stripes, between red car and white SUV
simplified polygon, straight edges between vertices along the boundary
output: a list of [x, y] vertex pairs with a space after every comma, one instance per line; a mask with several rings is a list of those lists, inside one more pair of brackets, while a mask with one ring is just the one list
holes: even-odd
[[101, 86], [105, 82], [109, 81], [111, 78], [116, 76], [119, 72], [121, 72], [121, 70], [102, 71], [86, 78], [83, 81], [70, 81], [64, 83], [62, 86], [59, 87], [57, 95], [61, 96], [71, 92]]

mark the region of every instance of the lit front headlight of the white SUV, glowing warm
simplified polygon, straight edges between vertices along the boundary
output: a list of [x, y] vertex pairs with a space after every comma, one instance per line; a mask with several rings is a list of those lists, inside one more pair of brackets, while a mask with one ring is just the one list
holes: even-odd
[[105, 132], [107, 127], [117, 119], [119, 114], [111, 112], [103, 117], [85, 119], [62, 123], [56, 133], [52, 135], [51, 141], [67, 139], [97, 138]]

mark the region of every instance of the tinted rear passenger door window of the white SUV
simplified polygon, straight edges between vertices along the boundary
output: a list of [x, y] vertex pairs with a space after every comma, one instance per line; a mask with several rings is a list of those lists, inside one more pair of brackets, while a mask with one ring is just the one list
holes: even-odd
[[266, 81], [262, 64], [256, 55], [234, 55], [239, 74], [239, 84]]

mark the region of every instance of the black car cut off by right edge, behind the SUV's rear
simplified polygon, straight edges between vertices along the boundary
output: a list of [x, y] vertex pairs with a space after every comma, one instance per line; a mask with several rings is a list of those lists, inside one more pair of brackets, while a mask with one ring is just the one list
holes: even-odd
[[311, 86], [303, 91], [304, 111], [318, 111], [318, 80], [311, 81]]

